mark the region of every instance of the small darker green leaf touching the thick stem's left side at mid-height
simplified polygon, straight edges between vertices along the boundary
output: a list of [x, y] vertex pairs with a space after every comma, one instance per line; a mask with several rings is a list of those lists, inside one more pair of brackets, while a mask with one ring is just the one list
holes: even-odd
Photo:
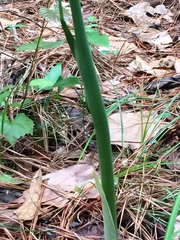
[[71, 87], [76, 84], [81, 84], [81, 81], [77, 77], [59, 78], [59, 80], [54, 85], [58, 87], [58, 91], [61, 92], [65, 87]]

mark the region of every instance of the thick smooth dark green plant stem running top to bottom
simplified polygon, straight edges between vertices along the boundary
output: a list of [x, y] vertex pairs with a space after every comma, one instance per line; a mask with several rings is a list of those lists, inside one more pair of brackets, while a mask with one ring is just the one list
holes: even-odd
[[102, 187], [109, 204], [114, 226], [117, 229], [113, 161], [107, 116], [92, 54], [86, 38], [79, 0], [70, 0], [70, 6], [75, 30], [75, 57], [79, 66], [85, 88], [86, 100], [96, 130]]

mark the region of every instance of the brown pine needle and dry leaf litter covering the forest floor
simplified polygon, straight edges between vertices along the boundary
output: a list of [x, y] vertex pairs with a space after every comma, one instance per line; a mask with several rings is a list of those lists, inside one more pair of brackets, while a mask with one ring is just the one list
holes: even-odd
[[[118, 239], [163, 238], [179, 189], [178, 7], [173, 1], [137, 0], [82, 1], [82, 5], [84, 17], [96, 16], [98, 30], [108, 35], [110, 43], [93, 46], [93, 57], [109, 111], [114, 171], [119, 176]], [[15, 48], [39, 37], [41, 7], [41, 1], [32, 1], [31, 8], [23, 0], [1, 4], [1, 87], [16, 83], [22, 75], [27, 78], [33, 49]], [[48, 20], [42, 42], [63, 42], [59, 23], [53, 17]], [[18, 27], [22, 22], [25, 27]], [[58, 51], [41, 48], [37, 59], [32, 79], [45, 78], [59, 62], [63, 77], [79, 76], [66, 43]], [[22, 97], [22, 92], [13, 96], [17, 102]], [[1, 181], [2, 193], [13, 191], [13, 197], [6, 194], [1, 204], [3, 237], [26, 239], [35, 230], [39, 239], [103, 239], [101, 202], [92, 177], [92, 170], [98, 170], [97, 144], [92, 136], [86, 146], [93, 124], [81, 104], [83, 87], [65, 87], [58, 101], [41, 91], [29, 92], [27, 98], [33, 105], [26, 112], [42, 132], [22, 137], [14, 148], [3, 146], [1, 170], [23, 182], [14, 186], [12, 178]], [[19, 138], [15, 133], [11, 143]], [[26, 129], [28, 133], [32, 134], [32, 127]], [[77, 163], [79, 158], [82, 163]], [[35, 175], [39, 169], [42, 179]], [[172, 198], [168, 192], [174, 193]], [[17, 199], [22, 193], [24, 197]]]

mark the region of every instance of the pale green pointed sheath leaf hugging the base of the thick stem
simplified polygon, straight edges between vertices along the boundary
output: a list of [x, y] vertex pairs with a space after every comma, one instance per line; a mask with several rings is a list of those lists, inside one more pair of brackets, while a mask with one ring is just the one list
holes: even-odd
[[102, 200], [105, 239], [117, 239], [117, 229], [115, 229], [111, 211], [106, 200], [106, 196], [104, 194], [104, 190], [98, 179], [97, 174], [93, 172], [93, 175]]

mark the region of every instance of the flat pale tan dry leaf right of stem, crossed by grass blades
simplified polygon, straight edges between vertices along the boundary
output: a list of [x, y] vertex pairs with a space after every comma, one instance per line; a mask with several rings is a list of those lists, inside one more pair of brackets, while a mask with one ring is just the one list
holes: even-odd
[[[148, 130], [144, 141], [154, 137], [165, 126], [165, 123], [157, 120], [152, 116], [152, 112], [150, 113], [149, 111], [122, 112], [122, 121], [121, 125], [120, 113], [114, 113], [108, 117], [111, 143], [122, 145], [123, 139], [124, 146], [130, 146], [132, 149], [140, 147], [146, 128]], [[159, 123], [157, 124], [158, 121]], [[123, 138], [121, 126], [123, 126]]]

